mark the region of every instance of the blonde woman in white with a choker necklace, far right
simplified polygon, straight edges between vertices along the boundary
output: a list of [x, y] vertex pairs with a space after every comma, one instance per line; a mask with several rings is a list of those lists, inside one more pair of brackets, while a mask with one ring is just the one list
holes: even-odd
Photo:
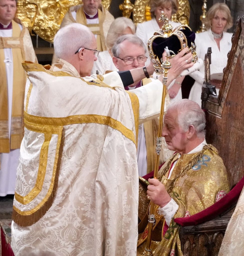
[[[213, 5], [206, 14], [205, 25], [207, 31], [196, 34], [195, 43], [198, 58], [202, 60], [208, 47], [212, 48], [210, 75], [211, 83], [215, 85], [217, 94], [221, 86], [221, 75], [215, 78], [213, 74], [223, 73], [227, 64], [227, 54], [231, 49], [231, 33], [225, 32], [233, 25], [230, 9], [224, 3]], [[199, 71], [190, 74], [196, 81], [190, 91], [189, 100], [197, 102], [201, 106], [201, 89], [204, 82], [204, 66]], [[215, 79], [214, 79], [215, 78]]]

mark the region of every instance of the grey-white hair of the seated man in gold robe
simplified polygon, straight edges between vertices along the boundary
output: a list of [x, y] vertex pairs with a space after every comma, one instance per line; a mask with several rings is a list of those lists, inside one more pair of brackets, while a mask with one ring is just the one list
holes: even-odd
[[183, 99], [170, 104], [167, 111], [178, 113], [178, 125], [186, 132], [190, 125], [194, 126], [198, 138], [205, 138], [206, 116], [200, 106], [191, 100]]

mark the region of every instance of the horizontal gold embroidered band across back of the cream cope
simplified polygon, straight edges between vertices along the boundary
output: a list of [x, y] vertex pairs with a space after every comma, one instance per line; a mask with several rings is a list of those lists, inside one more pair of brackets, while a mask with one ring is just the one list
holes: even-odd
[[[134, 94], [135, 95], [135, 94]], [[134, 98], [134, 96], [132, 96]], [[135, 95], [136, 97], [136, 95]], [[137, 98], [137, 97], [136, 97]], [[136, 99], [134, 99], [136, 100]], [[138, 99], [137, 99], [138, 100]], [[136, 112], [136, 110], [135, 110]], [[137, 112], [138, 113], [138, 112]], [[138, 115], [138, 114], [137, 114]], [[126, 138], [133, 141], [136, 144], [136, 139], [132, 130], [125, 127], [121, 122], [111, 118], [110, 116], [103, 115], [71, 115], [64, 118], [50, 118], [30, 115], [27, 112], [24, 113], [24, 122], [32, 123], [35, 125], [46, 126], [65, 126], [70, 124], [84, 124], [84, 123], [97, 123], [104, 124], [112, 127], [115, 130], [121, 132]], [[138, 123], [137, 123], [138, 127]], [[138, 130], [138, 129], [137, 129]]]

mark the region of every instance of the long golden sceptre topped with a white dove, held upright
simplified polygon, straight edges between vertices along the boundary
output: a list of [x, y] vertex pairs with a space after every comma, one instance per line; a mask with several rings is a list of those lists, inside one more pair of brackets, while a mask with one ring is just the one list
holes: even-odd
[[[166, 84], [167, 84], [167, 74], [168, 70], [172, 67], [171, 63], [168, 61], [168, 58], [170, 57], [170, 51], [168, 50], [168, 47], [165, 48], [166, 51], [166, 60], [161, 64], [161, 67], [164, 71], [164, 77], [163, 77], [163, 94], [162, 94], [162, 101], [161, 101], [161, 110], [160, 110], [160, 118], [159, 118], [159, 127], [158, 127], [158, 135], [156, 139], [156, 159], [154, 162], [154, 178], [157, 179], [158, 175], [158, 167], [159, 167], [159, 156], [161, 151], [161, 144], [162, 144], [162, 128], [163, 128], [163, 117], [164, 117], [164, 102], [165, 102], [165, 94], [166, 94]], [[155, 221], [154, 216], [154, 203], [151, 202], [151, 208], [150, 208], [150, 214], [148, 216], [148, 234], [147, 234], [147, 242], [146, 242], [146, 248], [143, 252], [143, 255], [146, 256], [153, 256], [152, 249], [151, 249], [151, 243], [152, 243], [152, 232], [153, 232], [153, 223]]]

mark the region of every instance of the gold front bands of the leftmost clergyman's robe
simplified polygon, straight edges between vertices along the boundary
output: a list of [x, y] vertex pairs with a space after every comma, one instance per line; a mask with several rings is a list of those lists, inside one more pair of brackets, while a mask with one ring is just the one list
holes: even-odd
[[[24, 131], [22, 116], [26, 76], [21, 63], [25, 59], [24, 27], [21, 31], [19, 25], [13, 20], [12, 26], [12, 37], [0, 37], [0, 153], [8, 153], [11, 149], [19, 148]], [[8, 131], [8, 88], [4, 48], [12, 48], [13, 55], [13, 97], [10, 136]]]

